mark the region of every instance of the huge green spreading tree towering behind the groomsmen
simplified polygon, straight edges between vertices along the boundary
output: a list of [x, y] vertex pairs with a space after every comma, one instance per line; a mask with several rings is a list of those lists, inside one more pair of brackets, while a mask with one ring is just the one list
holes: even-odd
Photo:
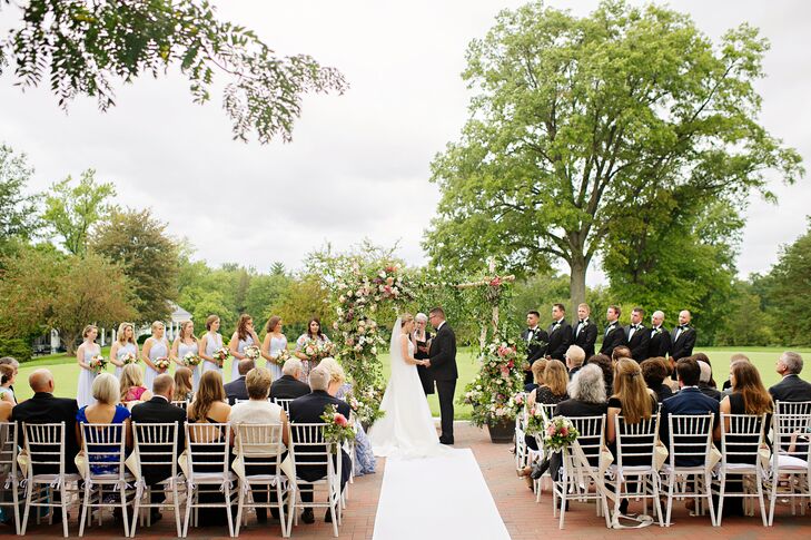
[[713, 43], [656, 6], [501, 12], [467, 52], [471, 119], [433, 163], [433, 262], [497, 255], [518, 273], [565, 262], [576, 305], [595, 255], [625, 240], [609, 235], [612, 223], [696, 198], [770, 196], [768, 171], [794, 181], [799, 155], [758, 122], [767, 50], [748, 24]]

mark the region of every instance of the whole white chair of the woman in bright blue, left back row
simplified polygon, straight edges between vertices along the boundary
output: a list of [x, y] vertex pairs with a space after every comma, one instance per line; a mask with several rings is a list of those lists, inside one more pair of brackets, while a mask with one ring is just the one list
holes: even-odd
[[[120, 508], [123, 518], [123, 534], [129, 533], [129, 507], [135, 499], [135, 477], [127, 471], [126, 424], [79, 424], [81, 448], [85, 452], [85, 497], [81, 501], [79, 537], [85, 536], [85, 524], [90, 524], [88, 510]], [[105, 489], [109, 491], [105, 492]], [[106, 501], [107, 495], [118, 493], [118, 501]]]

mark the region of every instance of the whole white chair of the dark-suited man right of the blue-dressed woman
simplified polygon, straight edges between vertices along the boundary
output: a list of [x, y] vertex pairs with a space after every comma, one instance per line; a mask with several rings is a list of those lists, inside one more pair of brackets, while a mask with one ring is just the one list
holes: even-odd
[[[151, 509], [165, 508], [171, 505], [175, 510], [175, 527], [177, 528], [178, 538], [182, 537], [182, 527], [180, 523], [180, 494], [179, 488], [185, 484], [182, 474], [178, 472], [178, 423], [146, 423], [132, 422], [132, 440], [133, 452], [136, 454], [136, 463], [138, 468], [138, 483], [135, 500], [135, 518], [132, 519], [132, 528], [129, 532], [130, 537], [135, 537], [138, 527], [138, 520], [146, 520], [147, 527], [151, 526]], [[150, 469], [160, 470], [167, 473], [167, 478], [156, 485], [149, 485], [144, 477], [145, 472]], [[152, 490], [169, 490], [171, 493], [171, 503], [166, 500], [162, 502], [151, 502]], [[144, 510], [146, 517], [141, 516]]]

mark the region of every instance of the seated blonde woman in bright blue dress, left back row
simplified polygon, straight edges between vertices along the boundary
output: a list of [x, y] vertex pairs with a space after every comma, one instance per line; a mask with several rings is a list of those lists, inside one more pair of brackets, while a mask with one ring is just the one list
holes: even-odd
[[[129, 409], [118, 404], [118, 379], [111, 373], [101, 373], [93, 379], [91, 386], [93, 400], [91, 405], [85, 405], [76, 413], [76, 440], [81, 444], [81, 425], [80, 424], [121, 424], [122, 433], [127, 448], [132, 448], [132, 429], [129, 424]], [[97, 448], [97, 450], [99, 450]], [[117, 445], [110, 446], [110, 454], [97, 455], [93, 461], [111, 461], [117, 462], [119, 455]], [[90, 472], [93, 474], [118, 474], [118, 465], [90, 465]]]

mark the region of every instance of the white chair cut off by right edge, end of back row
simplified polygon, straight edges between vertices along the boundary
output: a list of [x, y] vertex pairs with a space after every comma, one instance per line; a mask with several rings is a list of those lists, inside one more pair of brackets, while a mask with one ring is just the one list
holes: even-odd
[[[797, 516], [795, 501], [800, 499], [800, 512], [805, 514], [803, 499], [811, 499], [811, 401], [775, 403], [773, 418], [773, 451], [769, 463], [771, 487], [769, 502], [769, 526], [774, 522], [774, 504], [778, 498], [791, 500], [791, 514]], [[792, 448], [793, 446], [793, 448]], [[788, 489], [778, 492], [781, 481]]]

